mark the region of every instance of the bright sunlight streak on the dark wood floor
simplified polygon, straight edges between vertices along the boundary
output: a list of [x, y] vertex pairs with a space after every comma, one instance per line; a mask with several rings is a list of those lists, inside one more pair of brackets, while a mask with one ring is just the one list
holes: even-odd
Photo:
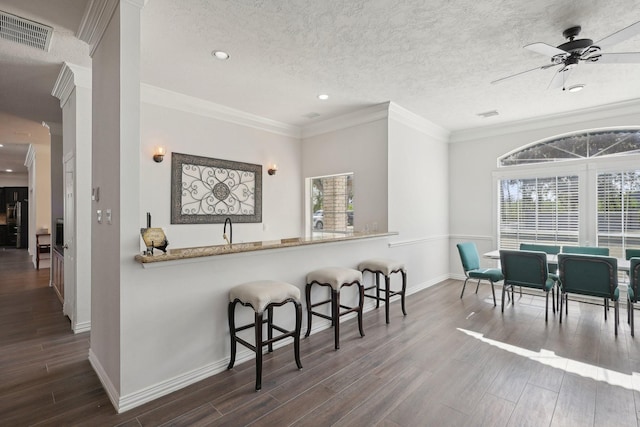
[[577, 360], [568, 359], [556, 355], [553, 351], [541, 349], [539, 352], [527, 350], [526, 348], [517, 347], [515, 345], [506, 344], [500, 341], [485, 338], [484, 334], [468, 331], [466, 329], [457, 328], [470, 337], [480, 340], [484, 343], [497, 347], [501, 350], [508, 351], [518, 356], [526, 357], [534, 362], [541, 363], [553, 368], [562, 369], [566, 372], [590, 378], [596, 381], [604, 381], [613, 386], [623, 387], [628, 390], [640, 391], [640, 373], [624, 374], [622, 372], [613, 371], [611, 369], [601, 368], [589, 363], [579, 362]]

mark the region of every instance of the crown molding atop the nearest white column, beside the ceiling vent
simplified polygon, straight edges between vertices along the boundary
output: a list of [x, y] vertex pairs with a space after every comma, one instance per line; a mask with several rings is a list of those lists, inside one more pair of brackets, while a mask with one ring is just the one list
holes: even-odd
[[121, 3], [127, 3], [142, 9], [148, 0], [90, 0], [78, 28], [78, 38], [90, 46], [89, 55], [93, 54], [102, 40], [102, 36]]

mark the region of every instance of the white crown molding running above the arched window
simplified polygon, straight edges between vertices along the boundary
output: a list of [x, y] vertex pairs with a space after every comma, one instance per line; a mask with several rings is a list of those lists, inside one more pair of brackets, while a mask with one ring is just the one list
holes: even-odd
[[476, 139], [508, 135], [511, 133], [534, 131], [553, 126], [578, 124], [593, 120], [602, 120], [633, 114], [640, 114], [640, 99], [583, 108], [567, 113], [549, 114], [546, 116], [517, 120], [499, 125], [453, 131], [451, 132], [449, 142], [466, 142]]

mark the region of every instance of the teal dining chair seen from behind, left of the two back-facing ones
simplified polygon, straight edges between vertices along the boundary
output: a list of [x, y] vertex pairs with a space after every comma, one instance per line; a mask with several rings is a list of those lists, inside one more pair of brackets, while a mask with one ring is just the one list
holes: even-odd
[[[545, 313], [544, 321], [549, 319], [549, 292], [553, 290], [555, 281], [549, 277], [549, 267], [547, 265], [547, 254], [541, 251], [500, 251], [500, 265], [504, 283], [502, 284], [502, 312], [504, 313], [505, 292], [511, 290], [511, 301], [515, 304], [513, 287], [521, 286], [532, 289], [539, 289], [545, 292]], [[509, 289], [508, 289], [509, 288]], [[553, 312], [556, 312], [555, 294], [551, 292], [553, 298]]]

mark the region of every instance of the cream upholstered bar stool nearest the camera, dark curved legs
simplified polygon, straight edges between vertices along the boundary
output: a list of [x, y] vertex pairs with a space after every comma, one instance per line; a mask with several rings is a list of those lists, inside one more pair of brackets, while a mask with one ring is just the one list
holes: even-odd
[[[296, 310], [296, 326], [294, 330], [287, 330], [273, 324], [273, 308], [293, 303]], [[236, 326], [236, 305], [240, 303], [249, 306], [255, 311], [254, 323], [244, 326]], [[263, 318], [264, 311], [267, 318]], [[233, 368], [236, 361], [236, 343], [240, 343], [256, 354], [256, 391], [262, 388], [262, 349], [266, 345], [269, 352], [273, 351], [273, 343], [284, 338], [293, 337], [293, 351], [298, 369], [302, 369], [300, 363], [300, 328], [302, 326], [302, 304], [300, 303], [300, 289], [286, 283], [274, 280], [260, 280], [243, 283], [231, 288], [229, 291], [229, 332], [231, 334], [231, 360], [227, 369]], [[263, 339], [262, 325], [267, 324], [267, 339]], [[245, 329], [255, 329], [255, 345], [240, 338], [237, 333]], [[273, 336], [273, 330], [281, 332], [277, 337]]]

